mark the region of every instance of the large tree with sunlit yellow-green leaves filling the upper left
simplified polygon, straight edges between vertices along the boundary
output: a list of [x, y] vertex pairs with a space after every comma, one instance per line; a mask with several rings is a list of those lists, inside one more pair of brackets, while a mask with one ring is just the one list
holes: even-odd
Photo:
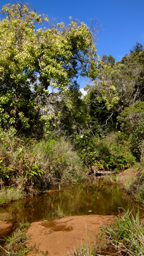
[[22, 3], [6, 4], [2, 11], [7, 16], [0, 20], [1, 129], [49, 132], [60, 124], [66, 94], [78, 92], [78, 77], [94, 79], [99, 72], [94, 33], [100, 27], [96, 20], [89, 28], [71, 17], [68, 26], [49, 22]]

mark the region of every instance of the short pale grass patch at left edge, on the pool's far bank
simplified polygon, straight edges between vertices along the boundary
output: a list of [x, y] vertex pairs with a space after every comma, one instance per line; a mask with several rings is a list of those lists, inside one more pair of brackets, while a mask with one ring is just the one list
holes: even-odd
[[1, 188], [0, 189], [0, 205], [9, 204], [12, 201], [16, 201], [25, 196], [23, 190], [11, 187], [11, 188]]

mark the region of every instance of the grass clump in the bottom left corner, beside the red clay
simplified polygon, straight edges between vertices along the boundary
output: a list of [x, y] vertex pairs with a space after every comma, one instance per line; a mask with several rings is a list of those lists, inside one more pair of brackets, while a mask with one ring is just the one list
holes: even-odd
[[29, 223], [20, 223], [20, 228], [17, 228], [11, 236], [6, 238], [6, 243], [2, 248], [2, 255], [10, 256], [23, 256], [31, 250], [28, 248], [29, 236], [26, 235], [27, 227]]

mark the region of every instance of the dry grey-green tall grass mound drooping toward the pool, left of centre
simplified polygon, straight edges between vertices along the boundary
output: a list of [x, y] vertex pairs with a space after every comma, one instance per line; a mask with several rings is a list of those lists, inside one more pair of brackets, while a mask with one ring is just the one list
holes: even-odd
[[[73, 145], [63, 137], [48, 142], [40, 141], [34, 145], [34, 152], [41, 159], [42, 168], [47, 172], [43, 175], [43, 183], [68, 183], [84, 177], [82, 161], [73, 150]], [[58, 159], [59, 157], [63, 159]]]

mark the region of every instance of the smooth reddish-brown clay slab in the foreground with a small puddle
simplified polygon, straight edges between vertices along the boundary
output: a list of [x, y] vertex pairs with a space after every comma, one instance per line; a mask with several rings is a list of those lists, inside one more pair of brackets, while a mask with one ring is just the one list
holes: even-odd
[[92, 244], [97, 243], [96, 235], [100, 233], [100, 225], [113, 221], [113, 215], [70, 216], [53, 221], [33, 222], [28, 229], [30, 235], [28, 246], [34, 247], [28, 256], [74, 255], [78, 244], [85, 245], [87, 234]]

